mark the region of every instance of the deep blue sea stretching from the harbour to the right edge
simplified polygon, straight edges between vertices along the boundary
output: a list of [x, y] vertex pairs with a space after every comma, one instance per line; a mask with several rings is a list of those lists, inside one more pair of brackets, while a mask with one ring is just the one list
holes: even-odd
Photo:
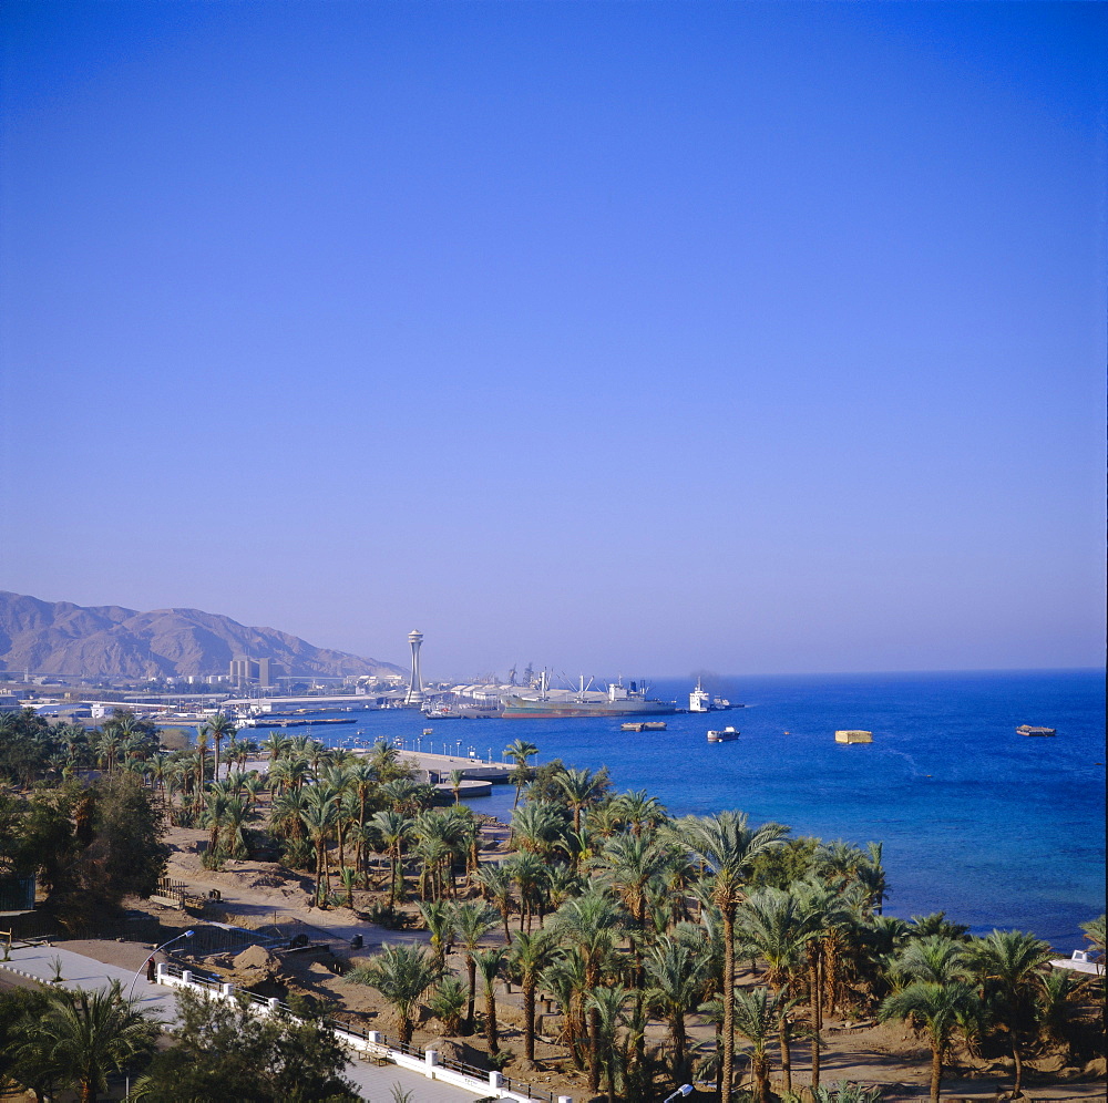
[[[1067, 956], [1084, 945], [1078, 925], [1105, 910], [1104, 672], [731, 678], [726, 687], [745, 709], [663, 718], [665, 732], [622, 732], [618, 720], [451, 720], [421, 744], [497, 759], [522, 738], [541, 762], [606, 765], [617, 790], [645, 788], [673, 815], [738, 808], [797, 834], [881, 841], [888, 914], [944, 909], [976, 934], [1030, 930]], [[690, 688], [658, 680], [652, 695], [687, 707]], [[355, 715], [356, 725], [314, 733], [414, 749], [424, 726], [414, 712]], [[1058, 734], [1017, 735], [1025, 723]], [[724, 724], [739, 728], [739, 740], [708, 743], [708, 729]], [[838, 744], [841, 728], [872, 731], [873, 743]], [[511, 804], [509, 786], [471, 802], [502, 817]]]

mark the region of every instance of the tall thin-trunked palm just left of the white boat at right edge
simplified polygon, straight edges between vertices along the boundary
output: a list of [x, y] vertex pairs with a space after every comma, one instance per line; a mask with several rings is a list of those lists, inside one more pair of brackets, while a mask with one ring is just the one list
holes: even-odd
[[1013, 1099], [1019, 1097], [1024, 1074], [1020, 1034], [1034, 1031], [1038, 979], [1050, 955], [1046, 942], [1022, 930], [994, 930], [971, 942], [966, 953], [970, 967], [984, 982], [986, 1002], [1008, 1032], [1015, 1065]]

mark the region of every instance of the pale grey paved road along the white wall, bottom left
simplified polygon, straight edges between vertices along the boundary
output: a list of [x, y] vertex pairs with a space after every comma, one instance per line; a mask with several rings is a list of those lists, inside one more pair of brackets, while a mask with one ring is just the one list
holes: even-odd
[[[74, 953], [59, 946], [23, 946], [11, 951], [11, 960], [0, 962], [0, 980], [8, 977], [14, 983], [41, 981], [49, 983], [54, 977], [53, 960], [61, 961], [62, 985], [65, 988], [99, 990], [117, 980], [124, 992], [137, 998], [143, 1013], [158, 1019], [166, 1025], [176, 1022], [176, 999], [171, 988], [152, 985], [145, 972], [138, 979], [130, 969], [104, 965], [83, 953]], [[8, 977], [4, 977], [4, 973]], [[133, 989], [132, 989], [133, 983]], [[393, 1099], [392, 1086], [399, 1084], [412, 1093], [412, 1103], [472, 1103], [479, 1093], [466, 1092], [440, 1081], [430, 1081], [418, 1072], [397, 1065], [378, 1066], [360, 1060], [347, 1063], [347, 1076], [357, 1085], [363, 1100], [369, 1103], [388, 1103]]]

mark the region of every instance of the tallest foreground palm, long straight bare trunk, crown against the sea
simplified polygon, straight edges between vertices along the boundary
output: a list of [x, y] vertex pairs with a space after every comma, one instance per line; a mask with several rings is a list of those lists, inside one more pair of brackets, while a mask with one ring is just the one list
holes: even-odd
[[688, 816], [676, 825], [678, 838], [712, 874], [711, 895], [724, 924], [724, 1056], [720, 1103], [730, 1103], [735, 1071], [735, 913], [750, 864], [788, 832], [780, 824], [751, 828], [743, 812]]

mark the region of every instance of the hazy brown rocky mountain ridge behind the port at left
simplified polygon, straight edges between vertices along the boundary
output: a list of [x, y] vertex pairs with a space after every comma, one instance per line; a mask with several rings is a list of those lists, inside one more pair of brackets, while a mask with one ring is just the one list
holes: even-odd
[[199, 609], [85, 608], [0, 590], [0, 669], [110, 678], [225, 674], [236, 654], [271, 659], [290, 674], [402, 673], [389, 662]]

